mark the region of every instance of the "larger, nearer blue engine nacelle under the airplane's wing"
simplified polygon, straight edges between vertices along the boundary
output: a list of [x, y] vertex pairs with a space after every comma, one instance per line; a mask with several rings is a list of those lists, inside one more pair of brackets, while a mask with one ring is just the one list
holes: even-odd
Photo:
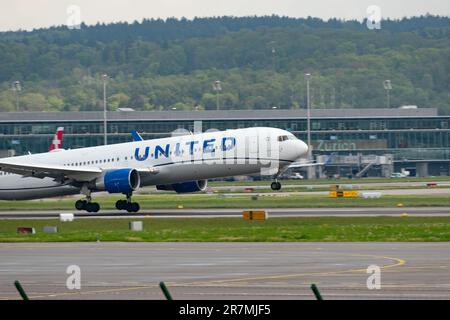
[[136, 169], [108, 170], [95, 180], [97, 190], [105, 190], [109, 193], [131, 193], [141, 185], [141, 177]]

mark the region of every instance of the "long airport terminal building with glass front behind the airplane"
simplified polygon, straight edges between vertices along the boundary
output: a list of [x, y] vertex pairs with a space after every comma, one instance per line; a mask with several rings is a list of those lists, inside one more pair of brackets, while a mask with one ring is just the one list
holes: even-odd
[[[108, 143], [167, 137], [177, 129], [191, 132], [255, 126], [289, 130], [307, 137], [306, 110], [115, 111], [108, 112]], [[331, 174], [389, 176], [402, 169], [411, 175], [450, 175], [450, 116], [437, 109], [313, 109], [313, 156]], [[0, 113], [0, 156], [46, 152], [57, 127], [64, 127], [64, 148], [103, 144], [103, 112]]]

